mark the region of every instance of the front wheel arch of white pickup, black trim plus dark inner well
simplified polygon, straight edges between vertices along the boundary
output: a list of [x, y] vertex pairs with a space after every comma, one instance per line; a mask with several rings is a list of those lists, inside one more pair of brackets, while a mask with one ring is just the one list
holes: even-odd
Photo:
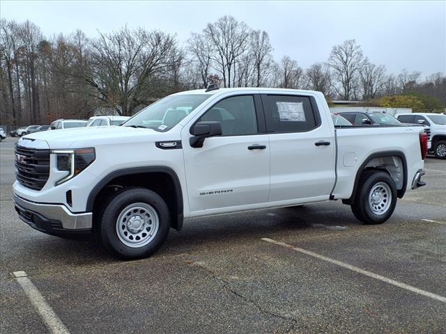
[[[171, 212], [171, 227], [176, 230], [181, 230], [181, 228], [183, 228], [183, 192], [178, 175], [176, 175], [176, 172], [172, 168], [166, 166], [143, 166], [114, 170], [112, 173], [103, 177], [102, 180], [93, 187], [87, 199], [86, 211], [93, 212], [94, 214], [95, 208], [99, 205], [98, 200], [101, 196], [107, 195], [107, 188], [109, 186], [134, 185], [125, 184], [125, 182], [134, 180], [133, 178], [136, 177], [144, 177], [144, 181], [146, 181], [147, 184], [151, 180], [159, 182], [160, 177], [164, 177], [163, 180], [171, 182], [171, 184], [163, 187], [166, 191], [169, 191], [169, 193], [162, 191], [163, 193], [159, 193], [159, 195], [166, 200]], [[146, 186], [146, 188], [151, 189], [150, 186]], [[160, 187], [158, 186], [157, 188], [158, 189], [151, 190], [159, 191]], [[171, 193], [171, 191], [173, 191], [173, 193]]]

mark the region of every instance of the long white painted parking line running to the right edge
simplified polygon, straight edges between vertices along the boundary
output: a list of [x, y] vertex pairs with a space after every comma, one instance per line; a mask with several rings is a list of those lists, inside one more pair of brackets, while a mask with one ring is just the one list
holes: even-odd
[[440, 296], [438, 294], [433, 294], [432, 292], [428, 292], [426, 290], [418, 289], [417, 287], [413, 287], [412, 285], [408, 285], [406, 283], [401, 283], [401, 282], [398, 282], [397, 280], [392, 280], [392, 278], [387, 278], [385, 276], [380, 276], [380, 275], [378, 275], [376, 273], [372, 273], [371, 271], [360, 269], [358, 267], [352, 266], [351, 264], [344, 263], [344, 262], [341, 262], [341, 261], [338, 261], [338, 260], [334, 260], [334, 259], [332, 259], [330, 257], [326, 257], [326, 256], [323, 256], [323, 255], [314, 253], [312, 251], [305, 250], [303, 248], [299, 248], [299, 247], [295, 247], [295, 246], [292, 246], [292, 245], [289, 245], [289, 244], [285, 244], [284, 242], [275, 241], [275, 240], [270, 239], [270, 238], [262, 238], [262, 240], [270, 242], [271, 244], [276, 244], [278, 246], [290, 248], [292, 250], [295, 250], [296, 252], [299, 252], [299, 253], [302, 253], [302, 254], [305, 254], [305, 255], [316, 257], [316, 259], [323, 260], [325, 262], [330, 262], [332, 264], [336, 264], [339, 267], [343, 267], [345, 269], [348, 269], [348, 270], [351, 270], [351, 271], [355, 271], [355, 273], [360, 273], [360, 274], [362, 274], [364, 276], [368, 276], [368, 277], [374, 278], [376, 280], [380, 280], [382, 282], [394, 285], [396, 287], [401, 287], [402, 289], [406, 289], [406, 290], [408, 290], [410, 292], [414, 292], [415, 294], [421, 294], [422, 296], [426, 296], [426, 297], [429, 297], [431, 299], [435, 299], [436, 301], [441, 301], [443, 303], [446, 303], [446, 297], [444, 297], [444, 296]]

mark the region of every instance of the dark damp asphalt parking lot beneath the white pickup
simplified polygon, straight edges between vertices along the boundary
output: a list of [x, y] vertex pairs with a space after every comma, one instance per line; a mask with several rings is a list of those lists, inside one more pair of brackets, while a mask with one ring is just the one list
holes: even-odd
[[339, 201], [198, 218], [124, 262], [17, 218], [14, 143], [0, 143], [1, 333], [50, 333], [16, 271], [65, 333], [446, 333], [446, 161], [426, 159], [427, 185], [383, 225]]

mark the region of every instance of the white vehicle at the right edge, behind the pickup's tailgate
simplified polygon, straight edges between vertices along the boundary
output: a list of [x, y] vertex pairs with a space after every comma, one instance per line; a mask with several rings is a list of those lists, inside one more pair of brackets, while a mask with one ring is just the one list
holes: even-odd
[[446, 159], [446, 115], [444, 113], [399, 113], [397, 118], [403, 123], [428, 126], [430, 151], [438, 159]]

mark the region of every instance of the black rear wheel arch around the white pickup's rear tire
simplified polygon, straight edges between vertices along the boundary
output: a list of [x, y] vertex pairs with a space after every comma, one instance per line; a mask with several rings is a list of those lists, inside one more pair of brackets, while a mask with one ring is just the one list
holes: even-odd
[[[385, 172], [390, 174], [390, 176], [392, 177], [393, 180], [395, 180], [395, 174], [398, 173], [397, 170], [395, 170], [395, 171], [387, 170], [387, 168], [385, 168], [385, 166], [376, 166], [374, 164], [374, 161], [379, 161], [379, 159], [386, 159], [386, 158], [389, 159], [392, 157], [397, 157], [397, 158], [401, 159], [401, 164], [402, 164], [402, 169], [403, 169], [402, 170], [403, 182], [401, 184], [401, 189], [397, 188], [397, 196], [398, 196], [398, 198], [402, 198], [404, 196], [404, 193], [406, 193], [407, 180], [408, 180], [406, 156], [401, 151], [383, 151], [383, 152], [375, 152], [375, 153], [370, 154], [369, 157], [367, 157], [367, 159], [365, 159], [362, 162], [360, 168], [358, 168], [356, 175], [355, 175], [355, 183], [353, 185], [353, 191], [351, 193], [351, 197], [348, 198], [348, 200], [343, 200], [343, 202], [345, 204], [351, 204], [351, 199], [355, 198], [355, 196], [356, 196], [357, 187], [359, 185], [361, 175], [362, 175], [362, 173], [364, 173], [365, 170], [371, 170], [371, 169], [384, 170]], [[395, 182], [395, 183], [397, 183], [397, 182]]]

